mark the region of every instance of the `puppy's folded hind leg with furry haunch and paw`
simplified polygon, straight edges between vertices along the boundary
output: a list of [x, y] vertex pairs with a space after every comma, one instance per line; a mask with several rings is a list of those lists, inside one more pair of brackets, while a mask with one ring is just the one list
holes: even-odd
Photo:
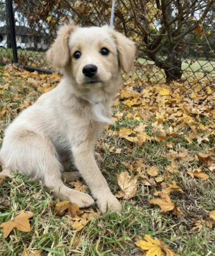
[[61, 180], [63, 169], [55, 148], [48, 137], [22, 130], [4, 141], [1, 150], [4, 169], [19, 170], [34, 179], [40, 179], [61, 200], [78, 207], [88, 207], [94, 200], [87, 194], [68, 188]]

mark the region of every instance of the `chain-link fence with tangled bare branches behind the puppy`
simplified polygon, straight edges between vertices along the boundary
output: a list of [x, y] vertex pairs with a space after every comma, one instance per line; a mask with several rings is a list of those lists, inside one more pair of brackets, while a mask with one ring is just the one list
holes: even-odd
[[[52, 71], [45, 52], [59, 26], [109, 24], [112, 1], [0, 0], [0, 61]], [[10, 5], [13, 20], [10, 19]], [[11, 23], [14, 22], [16, 44]], [[215, 91], [215, 2], [202, 0], [118, 0], [114, 27], [136, 41], [135, 87], [175, 81], [184, 91]], [[15, 53], [17, 52], [17, 60]]]

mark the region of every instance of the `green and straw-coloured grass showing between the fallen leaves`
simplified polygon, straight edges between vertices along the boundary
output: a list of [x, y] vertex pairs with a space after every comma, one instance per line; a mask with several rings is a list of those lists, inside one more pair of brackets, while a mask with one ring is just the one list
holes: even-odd
[[[16, 116], [17, 109], [20, 111], [20, 103], [26, 99], [35, 101], [39, 92], [37, 86], [27, 81], [27, 75], [33, 79], [38, 79], [37, 73], [18, 72], [11, 70], [9, 74], [4, 70], [0, 73], [0, 109], [8, 106], [10, 111], [2, 116], [0, 122], [0, 136], [8, 123]], [[41, 79], [53, 83], [52, 77], [44, 75]], [[42, 81], [42, 80], [41, 80]], [[56, 81], [55, 81], [56, 82]], [[9, 84], [8, 89], [1, 89]], [[23, 95], [22, 99], [13, 98], [12, 95]], [[148, 105], [149, 106], [149, 105]], [[155, 109], [157, 105], [153, 106]], [[174, 106], [173, 106], [174, 107]], [[124, 109], [124, 110], [123, 110]], [[125, 105], [114, 107], [113, 112], [123, 113], [116, 123], [110, 127], [113, 131], [121, 128], [134, 129], [140, 122], [146, 124], [146, 133], [155, 136], [153, 130], [154, 116], [135, 120], [128, 118], [128, 113], [137, 113], [137, 107], [125, 109]], [[1, 112], [0, 112], [1, 113]], [[196, 115], [196, 117], [198, 117]], [[199, 117], [200, 118], [200, 117]], [[207, 117], [201, 117], [199, 122], [204, 123], [205, 127], [214, 127], [215, 122]], [[163, 123], [167, 129], [171, 126], [170, 121]], [[180, 135], [180, 132], [183, 135]], [[178, 127], [177, 136], [167, 136], [166, 141], [145, 142], [142, 145], [127, 142], [120, 139], [117, 135], [109, 136], [105, 133], [97, 145], [97, 150], [104, 160], [99, 163], [99, 168], [107, 179], [113, 193], [119, 190], [116, 174], [127, 170], [124, 162], [135, 163], [141, 158], [145, 164], [156, 165], [159, 174], [164, 175], [164, 182], [176, 181], [177, 185], [185, 193], [174, 192], [171, 199], [184, 213], [183, 217], [176, 217], [171, 213], [161, 213], [158, 206], [150, 205], [148, 199], [154, 198], [153, 193], [160, 190], [157, 187], [144, 185], [139, 179], [138, 190], [135, 197], [129, 200], [120, 200], [123, 205], [121, 215], [107, 212], [97, 219], [92, 219], [90, 223], [80, 232], [70, 229], [68, 219], [56, 217], [52, 204], [56, 202], [50, 192], [42, 188], [41, 183], [36, 183], [30, 178], [16, 174], [15, 178], [7, 179], [0, 185], [0, 223], [10, 220], [16, 216], [20, 210], [31, 211], [35, 215], [30, 219], [31, 232], [21, 232], [13, 230], [10, 236], [3, 238], [0, 229], [0, 255], [12, 256], [20, 255], [24, 245], [32, 250], [41, 250], [42, 255], [124, 255], [137, 256], [141, 252], [135, 246], [135, 237], [144, 234], [163, 239], [171, 250], [182, 256], [206, 256], [215, 255], [215, 231], [205, 225], [198, 230], [192, 230], [194, 223], [192, 218], [205, 219], [206, 211], [215, 209], [215, 174], [211, 173], [206, 167], [202, 166], [204, 172], [210, 175], [207, 181], [191, 178], [186, 174], [189, 167], [199, 167], [198, 161], [187, 162], [178, 161], [178, 170], [170, 176], [167, 174], [167, 166], [170, 160], [167, 158], [169, 153], [168, 142], [173, 143], [173, 150], [189, 150], [190, 156], [195, 156], [198, 152], [207, 152], [214, 148], [214, 136], [209, 136], [209, 141], [198, 144], [193, 141], [191, 144], [185, 140], [192, 130], [187, 127]], [[206, 132], [203, 130], [202, 132]], [[116, 154], [105, 150], [104, 143], [110, 147], [121, 148], [121, 154]], [[130, 149], [130, 150], [128, 150]], [[134, 174], [131, 173], [132, 176]]]

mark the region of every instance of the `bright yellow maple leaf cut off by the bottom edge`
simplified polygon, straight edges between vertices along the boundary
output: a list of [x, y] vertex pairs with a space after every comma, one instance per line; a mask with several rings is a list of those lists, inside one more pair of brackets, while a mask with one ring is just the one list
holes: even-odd
[[180, 256], [170, 250], [162, 240], [153, 239], [150, 235], [145, 234], [144, 239], [140, 239], [135, 244], [142, 252], [146, 252], [146, 256]]

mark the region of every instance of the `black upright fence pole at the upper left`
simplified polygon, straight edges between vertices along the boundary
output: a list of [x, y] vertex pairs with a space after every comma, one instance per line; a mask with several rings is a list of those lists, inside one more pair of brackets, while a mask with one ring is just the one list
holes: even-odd
[[9, 23], [10, 23], [10, 33], [11, 33], [11, 45], [13, 50], [13, 62], [18, 63], [16, 32], [15, 32], [15, 24], [14, 24], [14, 17], [13, 17], [13, 3], [12, 3], [12, 0], [6, 0], [6, 1], [8, 1], [8, 14], [9, 14]]

